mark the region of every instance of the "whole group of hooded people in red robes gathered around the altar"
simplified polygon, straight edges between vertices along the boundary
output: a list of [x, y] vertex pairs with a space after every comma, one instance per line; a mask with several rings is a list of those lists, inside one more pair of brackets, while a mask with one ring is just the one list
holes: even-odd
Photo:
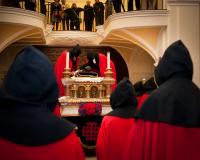
[[[79, 45], [70, 50], [71, 71], [101, 75], [103, 56], [88, 53], [87, 63], [79, 68], [80, 54]], [[0, 88], [2, 160], [85, 159], [76, 126], [55, 114], [58, 97], [64, 95], [65, 60], [63, 52], [53, 69], [49, 59], [30, 46], [15, 58]], [[113, 86], [112, 111], [103, 117], [98, 133], [97, 159], [197, 160], [200, 89], [192, 76], [190, 53], [179, 40], [166, 49], [154, 77], [135, 84], [124, 78]]]

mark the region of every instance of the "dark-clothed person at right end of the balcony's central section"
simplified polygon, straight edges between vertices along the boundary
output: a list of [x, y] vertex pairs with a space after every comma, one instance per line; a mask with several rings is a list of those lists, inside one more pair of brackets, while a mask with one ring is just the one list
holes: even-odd
[[95, 0], [94, 4], [94, 13], [95, 13], [95, 20], [96, 26], [103, 25], [104, 23], [104, 5], [99, 0]]

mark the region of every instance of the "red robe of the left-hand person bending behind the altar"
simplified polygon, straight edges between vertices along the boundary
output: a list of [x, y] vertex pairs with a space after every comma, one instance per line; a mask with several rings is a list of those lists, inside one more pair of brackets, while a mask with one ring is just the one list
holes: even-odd
[[[80, 59], [77, 58], [76, 66], [78, 66], [79, 63], [80, 63]], [[58, 60], [56, 61], [56, 64], [54, 67], [56, 79], [57, 79], [58, 87], [59, 87], [59, 97], [64, 96], [64, 93], [65, 93], [64, 86], [61, 81], [63, 78], [63, 72], [64, 72], [65, 67], [66, 67], [66, 51], [63, 51], [61, 53], [60, 57], [58, 58]], [[69, 59], [69, 67], [72, 68], [72, 60], [71, 59]]]

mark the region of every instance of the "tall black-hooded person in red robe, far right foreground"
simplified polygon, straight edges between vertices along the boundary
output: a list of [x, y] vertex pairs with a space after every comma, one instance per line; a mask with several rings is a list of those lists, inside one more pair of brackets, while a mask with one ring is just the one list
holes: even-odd
[[125, 160], [199, 159], [200, 91], [192, 75], [189, 51], [174, 42], [155, 69], [159, 88], [135, 115]]

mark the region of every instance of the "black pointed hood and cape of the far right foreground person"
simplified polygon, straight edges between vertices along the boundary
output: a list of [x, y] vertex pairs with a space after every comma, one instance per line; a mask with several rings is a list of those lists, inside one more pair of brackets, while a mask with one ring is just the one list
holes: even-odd
[[200, 90], [192, 82], [192, 60], [181, 41], [165, 51], [155, 76], [159, 88], [135, 118], [176, 126], [200, 127]]

